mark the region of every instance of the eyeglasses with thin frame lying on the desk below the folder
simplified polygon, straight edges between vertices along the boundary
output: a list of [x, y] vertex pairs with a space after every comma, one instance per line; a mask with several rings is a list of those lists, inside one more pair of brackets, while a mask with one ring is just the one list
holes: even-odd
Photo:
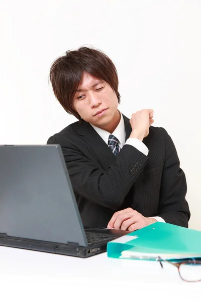
[[182, 280], [187, 282], [198, 282], [201, 281], [201, 260], [188, 259], [179, 262], [172, 262], [170, 260], [162, 260], [158, 257], [161, 267], [163, 267], [162, 261], [169, 262], [170, 264], [177, 267], [179, 276]]

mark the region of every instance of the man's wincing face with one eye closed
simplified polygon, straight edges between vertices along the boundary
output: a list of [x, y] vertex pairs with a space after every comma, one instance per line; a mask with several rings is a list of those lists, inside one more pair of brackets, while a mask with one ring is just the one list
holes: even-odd
[[73, 105], [82, 119], [97, 127], [107, 130], [120, 121], [116, 93], [107, 82], [89, 73], [83, 73]]

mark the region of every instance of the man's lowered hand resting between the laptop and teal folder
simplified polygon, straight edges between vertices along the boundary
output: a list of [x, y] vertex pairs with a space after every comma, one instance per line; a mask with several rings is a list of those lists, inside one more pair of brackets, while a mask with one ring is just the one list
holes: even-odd
[[155, 222], [155, 218], [144, 217], [136, 210], [133, 210], [132, 208], [126, 208], [124, 210], [115, 212], [108, 223], [108, 228], [135, 231]]

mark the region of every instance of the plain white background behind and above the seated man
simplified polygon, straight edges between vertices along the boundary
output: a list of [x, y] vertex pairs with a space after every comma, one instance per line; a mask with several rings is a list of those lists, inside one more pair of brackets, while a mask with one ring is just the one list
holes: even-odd
[[55, 99], [49, 68], [91, 45], [119, 73], [120, 110], [153, 108], [187, 179], [189, 226], [201, 230], [201, 2], [5, 0], [0, 7], [0, 144], [45, 144], [76, 121]]

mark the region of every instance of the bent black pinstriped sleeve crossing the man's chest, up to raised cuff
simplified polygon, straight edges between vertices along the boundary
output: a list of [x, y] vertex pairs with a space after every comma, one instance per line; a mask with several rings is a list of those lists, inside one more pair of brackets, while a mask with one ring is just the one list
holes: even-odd
[[149, 161], [134, 146], [124, 145], [116, 162], [105, 171], [97, 162], [86, 158], [71, 139], [68, 139], [67, 145], [65, 140], [64, 146], [62, 139], [54, 135], [47, 144], [61, 145], [74, 192], [113, 210], [121, 207], [131, 186]]

